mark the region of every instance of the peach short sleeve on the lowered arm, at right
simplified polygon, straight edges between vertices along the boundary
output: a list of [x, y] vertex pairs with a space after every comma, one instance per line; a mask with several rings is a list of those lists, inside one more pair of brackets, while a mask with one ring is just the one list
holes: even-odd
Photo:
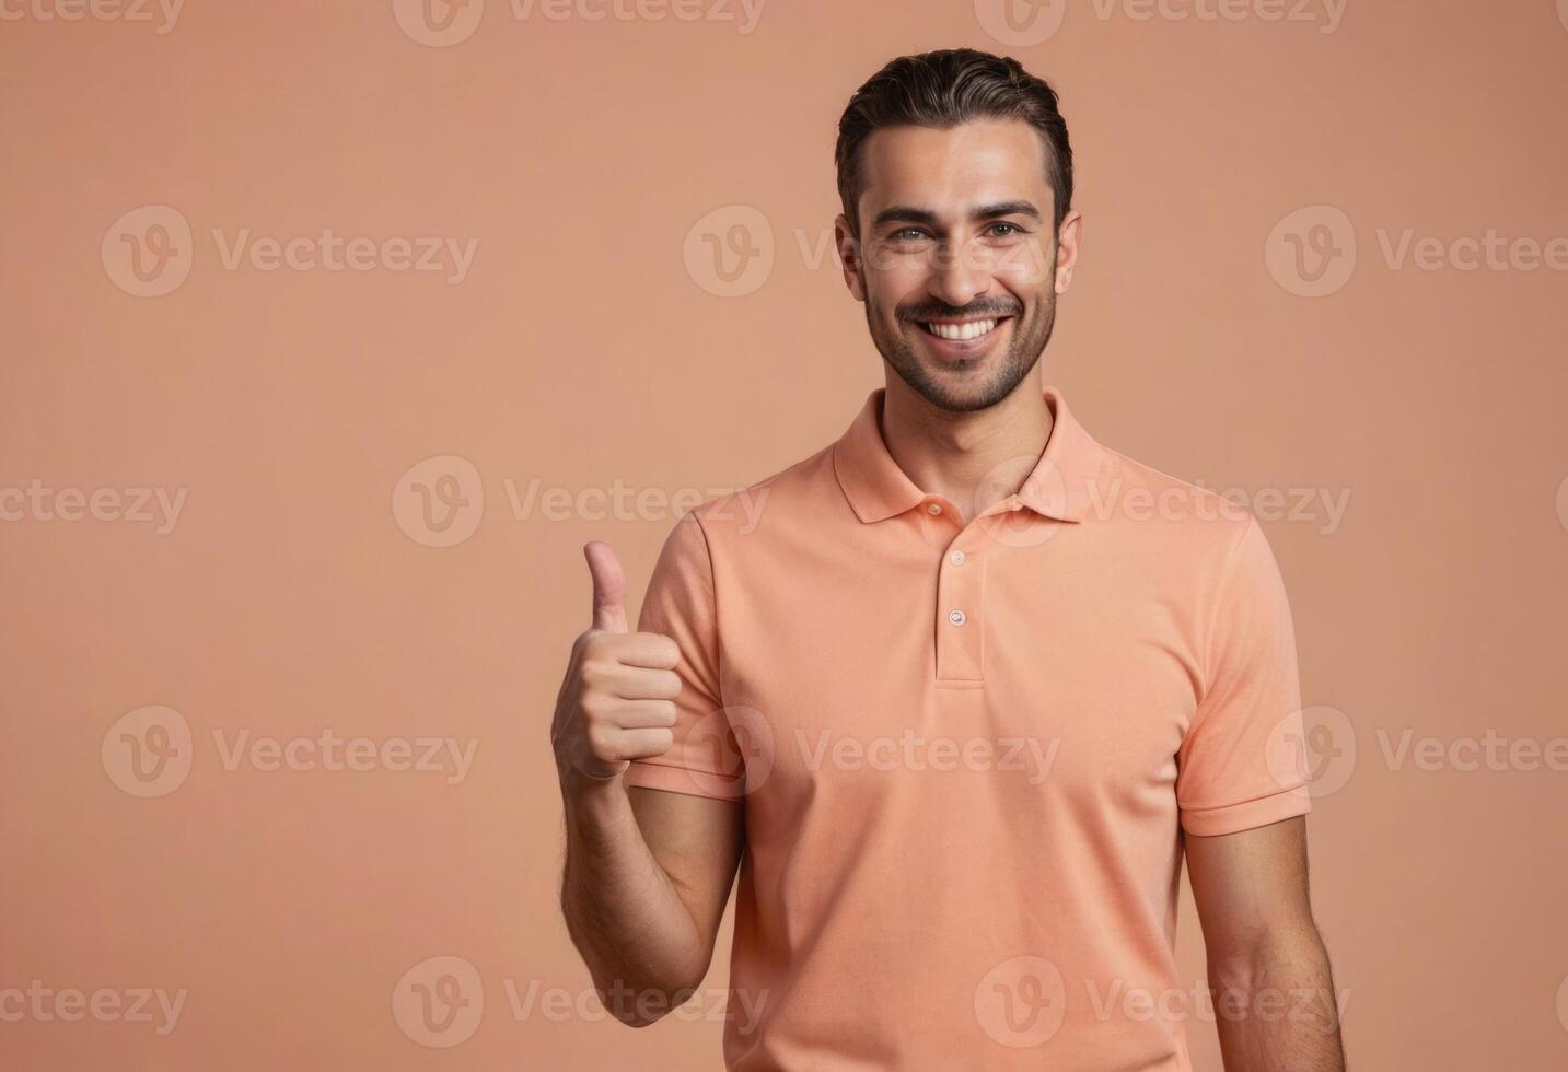
[[1256, 519], [1247, 519], [1207, 607], [1206, 690], [1176, 757], [1181, 824], [1200, 837], [1267, 826], [1312, 807], [1300, 762], [1295, 628]]

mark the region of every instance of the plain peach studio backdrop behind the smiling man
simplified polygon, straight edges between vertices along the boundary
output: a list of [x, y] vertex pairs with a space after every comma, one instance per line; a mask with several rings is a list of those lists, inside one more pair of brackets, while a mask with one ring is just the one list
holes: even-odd
[[[958, 44], [1063, 92], [1087, 252], [1046, 362], [1087, 426], [1210, 486], [1350, 492], [1334, 531], [1267, 531], [1305, 696], [1358, 746], [1311, 824], [1353, 1064], [1568, 1064], [1568, 773], [1391, 770], [1377, 737], [1568, 733], [1568, 274], [1396, 270], [1377, 238], [1568, 235], [1551, 0], [1350, 0], [1334, 33], [1074, 3], [1027, 47], [960, 0], [773, 0], [753, 33], [488, 0], [450, 47], [386, 2], [193, 2], [163, 34], [20, 11], [0, 22], [0, 487], [188, 495], [162, 536], [0, 522], [0, 989], [190, 995], [166, 1036], [0, 1022], [0, 1066], [718, 1067], [718, 1023], [508, 1009], [506, 981], [588, 986], [547, 749], [588, 624], [579, 549], [612, 541], [640, 592], [673, 516], [519, 519], [505, 481], [731, 489], [836, 437], [881, 371], [818, 244], [834, 122], [887, 58]], [[141, 205], [193, 230], [160, 298], [100, 257]], [[739, 296], [684, 252], [729, 205], [775, 249]], [[1341, 210], [1359, 251], [1322, 298], [1265, 257], [1306, 205]], [[227, 270], [212, 237], [328, 227], [478, 246], [448, 285]], [[394, 511], [431, 456], [483, 486], [452, 547], [398, 523], [419, 530], [408, 484]], [[147, 705], [187, 719], [194, 762], [138, 799], [102, 751]], [[230, 771], [213, 740], [323, 727], [475, 738], [475, 760], [456, 785]], [[1190, 901], [1182, 918], [1195, 981]], [[483, 980], [455, 1048], [394, 1016], [431, 956]], [[1212, 1028], [1192, 1036], [1217, 1069]]]

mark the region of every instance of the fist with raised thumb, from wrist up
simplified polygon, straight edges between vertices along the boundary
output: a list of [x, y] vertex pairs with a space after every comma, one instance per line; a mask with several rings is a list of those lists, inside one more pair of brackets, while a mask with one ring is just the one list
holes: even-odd
[[593, 575], [593, 625], [572, 644], [550, 726], [563, 785], [615, 779], [630, 760], [668, 752], [681, 694], [676, 643], [627, 628], [621, 560], [599, 541], [583, 555]]

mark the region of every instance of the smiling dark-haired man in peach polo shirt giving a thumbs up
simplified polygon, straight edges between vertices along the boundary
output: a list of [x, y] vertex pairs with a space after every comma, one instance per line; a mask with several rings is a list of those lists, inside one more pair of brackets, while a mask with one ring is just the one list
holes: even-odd
[[731, 1069], [1190, 1069], [1185, 856], [1226, 1067], [1342, 1069], [1275, 560], [1035, 373], [1082, 243], [1055, 94], [905, 56], [837, 160], [886, 387], [754, 530], [682, 519], [640, 632], [586, 547], [552, 737], [596, 986], [688, 998], [739, 865]]

